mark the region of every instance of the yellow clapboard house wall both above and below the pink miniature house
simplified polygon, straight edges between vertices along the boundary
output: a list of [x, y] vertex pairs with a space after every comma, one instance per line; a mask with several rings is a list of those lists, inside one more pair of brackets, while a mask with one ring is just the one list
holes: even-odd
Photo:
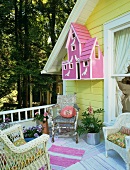
[[[86, 21], [86, 27], [92, 37], [97, 37], [104, 53], [104, 24], [130, 12], [130, 0], [99, 0], [91, 16]], [[100, 68], [99, 68], [100, 69]], [[66, 93], [77, 93], [77, 103], [80, 105], [80, 116], [90, 104], [95, 109], [104, 108], [103, 80], [66, 81]]]

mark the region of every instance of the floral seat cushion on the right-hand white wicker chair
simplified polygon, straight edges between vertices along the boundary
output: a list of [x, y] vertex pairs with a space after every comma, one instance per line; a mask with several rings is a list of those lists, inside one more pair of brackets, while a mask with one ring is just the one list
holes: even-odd
[[127, 134], [123, 134], [121, 132], [117, 132], [115, 134], [108, 135], [107, 139], [116, 145], [119, 145], [122, 148], [125, 148], [125, 137], [128, 136]]

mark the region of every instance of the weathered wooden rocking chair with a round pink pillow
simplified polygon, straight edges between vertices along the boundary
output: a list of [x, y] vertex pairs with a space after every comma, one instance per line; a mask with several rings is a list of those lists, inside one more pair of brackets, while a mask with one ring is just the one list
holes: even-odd
[[78, 134], [76, 132], [78, 123], [79, 107], [76, 104], [76, 94], [57, 95], [57, 115], [52, 115], [52, 142], [55, 134], [58, 137], [76, 136], [78, 143]]

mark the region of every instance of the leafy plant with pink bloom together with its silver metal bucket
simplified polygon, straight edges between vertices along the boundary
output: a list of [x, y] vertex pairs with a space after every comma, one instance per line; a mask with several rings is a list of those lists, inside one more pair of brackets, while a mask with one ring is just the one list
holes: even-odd
[[103, 109], [94, 110], [91, 106], [82, 113], [81, 125], [78, 126], [79, 135], [87, 134], [88, 144], [100, 143], [100, 130], [103, 127], [102, 121], [96, 116], [96, 113], [104, 113]]

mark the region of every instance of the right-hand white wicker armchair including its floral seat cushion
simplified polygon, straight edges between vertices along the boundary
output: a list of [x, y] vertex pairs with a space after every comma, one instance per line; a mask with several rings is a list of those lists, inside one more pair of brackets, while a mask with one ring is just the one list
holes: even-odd
[[[126, 132], [130, 132], [130, 129], [128, 128], [130, 127], [130, 113], [119, 115], [113, 126], [103, 127], [106, 157], [108, 156], [108, 150], [115, 150], [124, 159], [126, 169], [130, 170], [130, 134], [126, 135], [125, 133], [121, 133], [122, 127], [127, 127], [128, 130], [126, 130]], [[121, 136], [119, 137], [118, 135]], [[113, 143], [110, 141], [110, 138], [114, 139], [115, 142]]]

